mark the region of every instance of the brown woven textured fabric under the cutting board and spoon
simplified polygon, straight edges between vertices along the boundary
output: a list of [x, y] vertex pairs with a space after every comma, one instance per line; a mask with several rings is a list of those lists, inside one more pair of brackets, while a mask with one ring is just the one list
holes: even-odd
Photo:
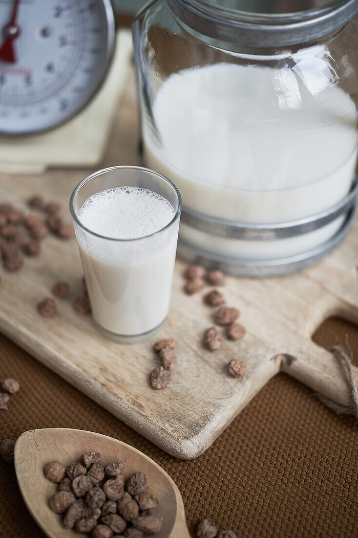
[[[320, 345], [345, 345], [358, 356], [358, 330], [328, 320]], [[355, 361], [356, 362], [356, 361]], [[164, 454], [50, 370], [0, 337], [0, 377], [22, 388], [1, 411], [0, 438], [27, 429], [68, 427], [119, 438], [152, 457], [182, 492], [188, 525], [204, 516], [239, 537], [358, 536], [358, 427], [336, 416], [312, 391], [284, 374], [272, 379], [205, 454], [183, 462]], [[1, 538], [42, 538], [0, 462]]]

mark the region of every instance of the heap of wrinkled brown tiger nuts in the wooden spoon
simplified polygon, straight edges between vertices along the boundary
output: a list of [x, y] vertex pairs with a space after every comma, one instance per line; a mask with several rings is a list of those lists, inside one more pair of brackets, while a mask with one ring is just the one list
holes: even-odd
[[159, 533], [162, 519], [153, 515], [158, 500], [148, 493], [148, 478], [142, 472], [124, 476], [124, 463], [101, 464], [99, 452], [87, 452], [81, 463], [67, 467], [49, 462], [45, 476], [58, 484], [49, 499], [56, 514], [64, 514], [63, 526], [92, 538], [142, 538]]

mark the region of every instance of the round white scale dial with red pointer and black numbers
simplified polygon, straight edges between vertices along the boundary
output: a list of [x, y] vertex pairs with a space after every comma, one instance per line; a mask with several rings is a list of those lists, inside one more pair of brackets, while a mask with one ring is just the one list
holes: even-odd
[[113, 47], [110, 0], [0, 0], [0, 134], [68, 121], [101, 86]]

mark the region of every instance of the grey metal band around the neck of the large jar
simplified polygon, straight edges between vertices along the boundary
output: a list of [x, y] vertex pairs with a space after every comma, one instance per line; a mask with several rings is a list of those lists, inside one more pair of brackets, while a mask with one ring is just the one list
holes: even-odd
[[322, 38], [358, 13], [358, 0], [333, 0], [319, 8], [289, 13], [259, 13], [206, 0], [166, 0], [174, 15], [206, 37], [242, 47], [282, 47]]

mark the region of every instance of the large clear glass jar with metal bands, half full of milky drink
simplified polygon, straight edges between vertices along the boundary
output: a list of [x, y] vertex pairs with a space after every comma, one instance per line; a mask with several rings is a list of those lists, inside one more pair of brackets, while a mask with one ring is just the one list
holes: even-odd
[[282, 274], [330, 252], [357, 183], [356, 0], [156, 0], [133, 22], [146, 166], [179, 256]]

